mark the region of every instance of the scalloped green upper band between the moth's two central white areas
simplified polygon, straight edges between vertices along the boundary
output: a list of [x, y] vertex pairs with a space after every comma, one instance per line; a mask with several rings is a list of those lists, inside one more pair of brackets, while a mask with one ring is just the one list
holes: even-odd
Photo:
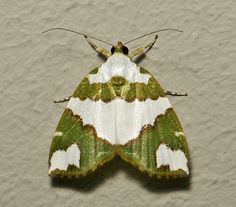
[[[95, 68], [89, 74], [96, 74], [98, 68]], [[149, 74], [144, 68], [140, 68], [140, 73]], [[85, 77], [73, 94], [81, 100], [91, 99], [94, 101], [102, 100], [110, 102], [119, 97], [127, 102], [138, 99], [139, 101], [150, 98], [157, 100], [159, 96], [165, 96], [157, 80], [151, 76], [148, 84], [144, 83], [130, 83], [122, 76], [113, 76], [110, 81], [106, 83], [90, 83], [89, 78]]]

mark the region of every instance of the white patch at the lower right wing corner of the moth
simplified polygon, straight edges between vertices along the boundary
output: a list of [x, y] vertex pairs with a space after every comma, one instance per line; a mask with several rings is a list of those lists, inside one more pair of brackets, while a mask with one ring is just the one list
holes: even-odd
[[165, 144], [160, 144], [156, 151], [156, 161], [157, 168], [168, 165], [171, 171], [182, 169], [189, 174], [188, 160], [181, 150], [172, 151]]

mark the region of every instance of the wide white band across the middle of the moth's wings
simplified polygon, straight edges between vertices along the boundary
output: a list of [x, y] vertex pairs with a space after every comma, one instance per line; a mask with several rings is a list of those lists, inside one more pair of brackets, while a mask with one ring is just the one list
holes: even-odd
[[166, 97], [145, 101], [135, 99], [131, 103], [123, 99], [104, 103], [102, 100], [81, 101], [79, 98], [71, 98], [67, 108], [74, 115], [79, 115], [83, 124], [94, 126], [99, 137], [111, 144], [125, 144], [138, 137], [144, 125], [153, 125], [155, 118], [165, 114], [171, 105]]

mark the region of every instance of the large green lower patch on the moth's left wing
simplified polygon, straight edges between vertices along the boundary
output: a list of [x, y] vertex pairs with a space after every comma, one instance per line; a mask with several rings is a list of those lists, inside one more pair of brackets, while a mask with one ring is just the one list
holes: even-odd
[[[73, 115], [69, 109], [66, 109], [52, 140], [49, 153], [49, 168], [52, 165], [51, 158], [53, 154], [57, 151], [65, 151], [74, 143], [77, 144], [80, 150], [80, 166], [69, 165], [64, 170], [54, 169], [49, 172], [50, 175], [59, 177], [85, 176], [115, 156], [114, 146], [97, 137], [96, 131], [92, 126], [83, 125], [79, 116]], [[59, 160], [55, 162], [59, 162]]]

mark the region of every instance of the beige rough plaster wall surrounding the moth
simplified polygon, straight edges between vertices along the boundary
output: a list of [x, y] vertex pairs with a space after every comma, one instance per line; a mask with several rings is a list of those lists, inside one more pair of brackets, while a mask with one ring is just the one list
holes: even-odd
[[[0, 1], [0, 206], [236, 205], [236, 1]], [[66, 27], [115, 43], [159, 28], [140, 62], [171, 97], [188, 137], [192, 177], [162, 183], [120, 159], [80, 181], [51, 181], [47, 157], [65, 104], [103, 62]], [[149, 37], [130, 45], [138, 46]]]

